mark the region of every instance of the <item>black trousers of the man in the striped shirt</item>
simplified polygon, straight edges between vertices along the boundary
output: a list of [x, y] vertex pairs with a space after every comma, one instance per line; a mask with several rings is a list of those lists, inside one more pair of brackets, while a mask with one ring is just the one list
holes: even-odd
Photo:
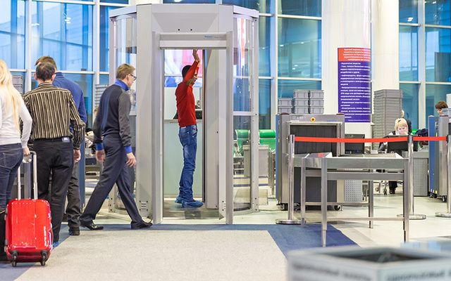
[[[61, 138], [40, 139], [35, 140], [34, 149], [37, 155], [37, 197], [50, 203], [54, 242], [58, 242], [73, 169], [73, 144], [72, 141], [63, 143]], [[51, 188], [49, 188], [50, 174]]]

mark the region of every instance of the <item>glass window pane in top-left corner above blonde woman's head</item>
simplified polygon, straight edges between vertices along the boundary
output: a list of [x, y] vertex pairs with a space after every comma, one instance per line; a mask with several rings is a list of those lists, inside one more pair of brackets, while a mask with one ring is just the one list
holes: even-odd
[[25, 1], [5, 1], [0, 9], [0, 58], [9, 68], [25, 68]]

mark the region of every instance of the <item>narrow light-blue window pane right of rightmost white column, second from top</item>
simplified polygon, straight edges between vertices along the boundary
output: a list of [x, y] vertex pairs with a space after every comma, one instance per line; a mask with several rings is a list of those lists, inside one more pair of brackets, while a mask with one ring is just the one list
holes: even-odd
[[400, 81], [418, 80], [418, 27], [400, 25]]

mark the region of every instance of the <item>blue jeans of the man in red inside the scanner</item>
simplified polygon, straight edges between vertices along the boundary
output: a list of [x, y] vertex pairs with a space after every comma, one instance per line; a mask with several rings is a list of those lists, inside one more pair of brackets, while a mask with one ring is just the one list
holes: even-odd
[[183, 169], [180, 176], [179, 197], [186, 201], [192, 201], [192, 178], [196, 168], [197, 126], [180, 128], [178, 138], [183, 146]]

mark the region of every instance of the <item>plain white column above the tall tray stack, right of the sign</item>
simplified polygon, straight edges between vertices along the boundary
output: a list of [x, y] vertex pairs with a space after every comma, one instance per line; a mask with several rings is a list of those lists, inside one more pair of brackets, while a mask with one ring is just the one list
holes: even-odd
[[400, 12], [399, 1], [373, 0], [372, 91], [400, 89]]

